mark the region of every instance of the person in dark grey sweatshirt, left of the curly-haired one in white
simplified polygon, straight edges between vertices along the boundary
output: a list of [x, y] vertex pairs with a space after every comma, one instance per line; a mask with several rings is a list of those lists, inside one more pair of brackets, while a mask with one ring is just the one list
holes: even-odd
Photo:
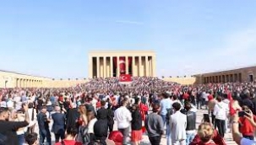
[[164, 122], [161, 115], [158, 115], [160, 105], [153, 105], [153, 113], [146, 116], [145, 128], [148, 132], [150, 143], [159, 145], [161, 142], [161, 136], [164, 133]]

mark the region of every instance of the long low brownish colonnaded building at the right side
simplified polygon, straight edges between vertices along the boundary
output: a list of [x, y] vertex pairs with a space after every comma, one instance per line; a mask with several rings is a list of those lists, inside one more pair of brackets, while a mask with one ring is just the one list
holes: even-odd
[[256, 66], [197, 74], [193, 75], [193, 77], [197, 78], [196, 83], [253, 82], [256, 80]]

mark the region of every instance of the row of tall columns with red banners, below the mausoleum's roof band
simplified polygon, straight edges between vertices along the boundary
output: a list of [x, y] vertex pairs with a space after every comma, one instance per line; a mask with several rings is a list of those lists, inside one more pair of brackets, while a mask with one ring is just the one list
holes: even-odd
[[155, 77], [155, 56], [90, 56], [89, 59], [90, 78], [119, 77], [120, 74]]

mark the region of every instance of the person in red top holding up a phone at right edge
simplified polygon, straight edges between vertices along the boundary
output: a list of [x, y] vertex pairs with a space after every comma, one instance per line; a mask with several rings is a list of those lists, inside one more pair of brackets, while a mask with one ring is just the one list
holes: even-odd
[[[247, 105], [242, 106], [242, 111], [249, 111], [249, 107]], [[256, 121], [256, 115], [253, 115], [253, 120]], [[245, 116], [239, 117], [239, 131], [242, 133], [242, 137], [254, 140], [254, 126], [248, 121]]]

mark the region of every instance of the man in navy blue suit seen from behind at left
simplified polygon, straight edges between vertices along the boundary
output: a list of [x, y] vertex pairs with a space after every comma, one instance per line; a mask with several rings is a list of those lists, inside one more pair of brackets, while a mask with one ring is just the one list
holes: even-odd
[[52, 114], [52, 132], [55, 135], [55, 142], [59, 142], [59, 138], [62, 140], [65, 138], [65, 115], [61, 113], [59, 106], [55, 107], [56, 113]]

